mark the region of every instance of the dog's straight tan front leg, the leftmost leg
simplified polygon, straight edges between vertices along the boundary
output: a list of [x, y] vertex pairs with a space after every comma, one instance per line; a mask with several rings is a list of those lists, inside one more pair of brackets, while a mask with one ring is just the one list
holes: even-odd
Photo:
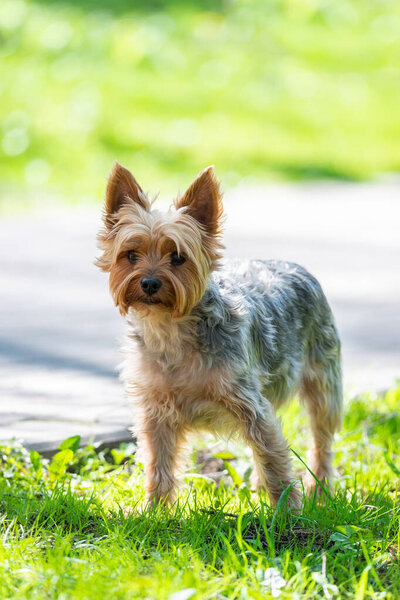
[[176, 470], [184, 440], [176, 420], [146, 416], [137, 426], [140, 454], [145, 466], [146, 498], [154, 504], [172, 503], [177, 487]]

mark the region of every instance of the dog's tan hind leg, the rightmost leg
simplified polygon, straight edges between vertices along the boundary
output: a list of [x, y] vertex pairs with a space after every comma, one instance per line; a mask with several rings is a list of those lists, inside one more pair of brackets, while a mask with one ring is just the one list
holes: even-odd
[[[337, 341], [337, 339], [336, 339]], [[315, 359], [315, 347], [311, 358]], [[343, 393], [340, 366], [340, 347], [331, 348], [330, 356], [321, 355], [323, 359], [310, 360], [303, 372], [300, 396], [310, 415], [313, 446], [308, 454], [308, 467], [314, 476], [307, 472], [303, 483], [308, 493], [321, 495], [322, 484], [332, 483], [332, 443], [334, 433], [342, 423]], [[336, 351], [335, 351], [336, 350]], [[320, 355], [320, 356], [321, 356]], [[317, 480], [316, 480], [317, 479]], [[317, 487], [318, 486], [318, 487]]]

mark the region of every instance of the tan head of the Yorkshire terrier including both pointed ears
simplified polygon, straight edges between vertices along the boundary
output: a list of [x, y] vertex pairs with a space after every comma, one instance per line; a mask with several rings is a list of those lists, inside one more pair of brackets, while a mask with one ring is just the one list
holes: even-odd
[[116, 163], [107, 184], [103, 254], [121, 314], [188, 315], [221, 258], [222, 199], [212, 167], [200, 173], [167, 212], [154, 209], [130, 171]]

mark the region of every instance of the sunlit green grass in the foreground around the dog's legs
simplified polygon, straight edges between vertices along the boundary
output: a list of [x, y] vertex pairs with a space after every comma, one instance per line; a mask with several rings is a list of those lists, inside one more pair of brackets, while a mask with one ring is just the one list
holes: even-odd
[[[324, 504], [307, 500], [298, 515], [251, 494], [246, 452], [238, 455], [237, 446], [197, 440], [178, 504], [154, 511], [143, 508], [132, 444], [96, 453], [71, 438], [50, 462], [3, 444], [0, 598], [395, 600], [399, 403], [400, 388], [348, 403], [335, 493]], [[296, 405], [284, 416], [304, 456], [304, 417]], [[205, 474], [210, 468], [219, 485]]]

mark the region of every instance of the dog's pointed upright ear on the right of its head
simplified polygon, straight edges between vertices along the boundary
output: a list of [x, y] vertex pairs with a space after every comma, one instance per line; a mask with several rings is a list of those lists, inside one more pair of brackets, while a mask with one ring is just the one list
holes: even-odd
[[185, 208], [184, 213], [203, 225], [207, 233], [219, 233], [223, 212], [222, 194], [212, 166], [196, 177], [183, 196], [175, 202], [175, 207]]

